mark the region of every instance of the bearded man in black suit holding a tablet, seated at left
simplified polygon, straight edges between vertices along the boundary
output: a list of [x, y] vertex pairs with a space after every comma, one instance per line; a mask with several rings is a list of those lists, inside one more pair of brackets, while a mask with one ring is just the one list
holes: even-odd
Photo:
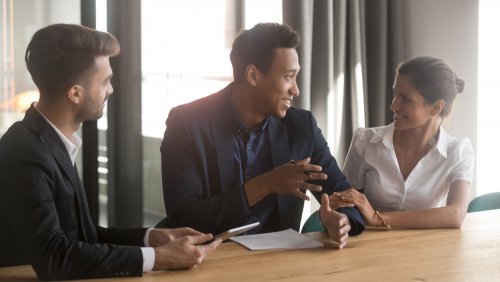
[[220, 240], [190, 228], [96, 227], [75, 157], [82, 122], [103, 115], [116, 38], [79, 25], [37, 31], [26, 50], [40, 100], [0, 140], [0, 266], [31, 264], [44, 280], [138, 276], [189, 268]]

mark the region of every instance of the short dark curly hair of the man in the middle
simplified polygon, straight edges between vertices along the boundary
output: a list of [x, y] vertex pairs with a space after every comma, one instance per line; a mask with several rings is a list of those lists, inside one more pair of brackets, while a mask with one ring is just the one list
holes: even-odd
[[251, 29], [241, 31], [233, 42], [230, 54], [234, 81], [244, 79], [245, 69], [250, 64], [267, 73], [274, 49], [296, 48], [300, 40], [300, 35], [286, 24], [259, 23]]

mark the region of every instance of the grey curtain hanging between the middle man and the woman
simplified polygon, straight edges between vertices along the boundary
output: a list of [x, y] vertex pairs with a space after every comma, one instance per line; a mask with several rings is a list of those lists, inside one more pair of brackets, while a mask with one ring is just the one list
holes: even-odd
[[342, 166], [352, 132], [390, 122], [394, 69], [403, 57], [402, 1], [286, 0], [283, 22], [301, 35], [301, 95]]

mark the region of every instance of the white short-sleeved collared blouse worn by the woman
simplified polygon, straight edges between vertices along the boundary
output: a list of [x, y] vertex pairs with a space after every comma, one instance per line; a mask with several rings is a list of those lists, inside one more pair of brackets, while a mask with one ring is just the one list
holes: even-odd
[[410, 172], [399, 169], [392, 136], [394, 124], [358, 128], [347, 153], [344, 174], [380, 211], [442, 207], [451, 184], [472, 182], [474, 152], [469, 139], [457, 139], [441, 127], [438, 142]]

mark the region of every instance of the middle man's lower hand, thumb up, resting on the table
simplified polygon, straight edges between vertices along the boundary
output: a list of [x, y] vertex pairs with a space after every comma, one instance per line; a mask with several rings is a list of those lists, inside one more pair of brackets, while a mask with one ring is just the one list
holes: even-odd
[[351, 225], [345, 214], [338, 213], [330, 208], [330, 201], [327, 194], [321, 195], [319, 218], [328, 231], [330, 238], [338, 243], [338, 249], [344, 248], [347, 244]]

